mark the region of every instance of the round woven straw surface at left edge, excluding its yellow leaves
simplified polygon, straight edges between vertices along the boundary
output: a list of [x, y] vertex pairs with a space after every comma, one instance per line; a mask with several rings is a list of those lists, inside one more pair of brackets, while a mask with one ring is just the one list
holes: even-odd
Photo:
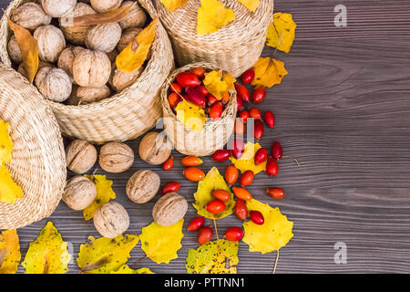
[[35, 87], [3, 64], [0, 84], [0, 119], [14, 144], [5, 167], [23, 189], [15, 203], [0, 203], [0, 229], [11, 229], [53, 213], [66, 185], [66, 157], [56, 118]]

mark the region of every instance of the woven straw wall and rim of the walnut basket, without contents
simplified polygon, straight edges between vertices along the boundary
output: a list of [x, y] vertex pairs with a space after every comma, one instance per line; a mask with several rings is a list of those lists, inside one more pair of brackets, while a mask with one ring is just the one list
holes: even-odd
[[[22, 0], [14, 0], [6, 9], [10, 15]], [[138, 0], [151, 17], [157, 12], [150, 0]], [[0, 57], [10, 66], [7, 53], [9, 29], [5, 16], [0, 25]], [[174, 68], [169, 37], [159, 23], [151, 47], [152, 57], [138, 80], [117, 95], [88, 105], [67, 106], [47, 100], [56, 115], [61, 131], [70, 137], [97, 144], [137, 138], [151, 129], [161, 117], [159, 90]]]

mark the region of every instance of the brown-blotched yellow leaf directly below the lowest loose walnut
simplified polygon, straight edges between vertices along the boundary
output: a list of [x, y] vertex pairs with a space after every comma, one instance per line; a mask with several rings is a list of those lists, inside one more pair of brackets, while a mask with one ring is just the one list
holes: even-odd
[[116, 238], [88, 236], [80, 245], [77, 265], [83, 274], [110, 274], [117, 271], [131, 257], [129, 253], [138, 244], [137, 235], [118, 235]]

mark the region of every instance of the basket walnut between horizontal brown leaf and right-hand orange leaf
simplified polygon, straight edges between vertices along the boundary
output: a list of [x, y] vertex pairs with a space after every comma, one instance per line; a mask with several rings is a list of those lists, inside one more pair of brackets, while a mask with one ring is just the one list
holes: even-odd
[[90, 49], [108, 53], [117, 47], [121, 33], [121, 26], [116, 22], [94, 26], [88, 30], [86, 46]]

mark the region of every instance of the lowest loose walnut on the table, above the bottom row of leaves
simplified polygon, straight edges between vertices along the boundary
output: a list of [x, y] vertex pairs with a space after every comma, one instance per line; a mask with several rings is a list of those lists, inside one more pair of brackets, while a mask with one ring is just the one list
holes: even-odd
[[129, 227], [129, 216], [124, 207], [114, 201], [105, 203], [94, 214], [97, 232], [107, 238], [122, 235]]

